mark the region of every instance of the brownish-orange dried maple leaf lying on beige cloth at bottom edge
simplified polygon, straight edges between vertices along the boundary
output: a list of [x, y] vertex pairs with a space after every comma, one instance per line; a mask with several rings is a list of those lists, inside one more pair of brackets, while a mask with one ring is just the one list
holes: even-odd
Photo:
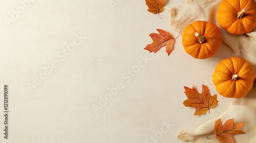
[[218, 138], [220, 143], [234, 143], [234, 134], [245, 134], [245, 132], [242, 130], [243, 126], [243, 122], [234, 124], [233, 118], [229, 119], [222, 125], [221, 119], [219, 119], [215, 122], [214, 134], [216, 135], [215, 137]]

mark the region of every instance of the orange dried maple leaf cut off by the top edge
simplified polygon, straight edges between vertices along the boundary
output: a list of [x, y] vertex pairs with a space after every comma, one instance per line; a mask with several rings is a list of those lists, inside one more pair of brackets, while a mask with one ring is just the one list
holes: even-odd
[[165, 2], [166, 0], [146, 0], [146, 5], [148, 7], [147, 11], [158, 14], [159, 16], [159, 13], [164, 11]]

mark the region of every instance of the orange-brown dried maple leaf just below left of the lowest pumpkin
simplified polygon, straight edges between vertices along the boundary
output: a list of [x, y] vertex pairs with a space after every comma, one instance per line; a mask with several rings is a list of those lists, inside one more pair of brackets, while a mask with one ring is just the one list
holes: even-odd
[[214, 108], [219, 101], [217, 101], [217, 94], [210, 96], [209, 89], [203, 85], [202, 93], [199, 93], [194, 87], [185, 87], [185, 94], [187, 100], [183, 102], [186, 107], [194, 107], [196, 111], [194, 115], [205, 114], [207, 111], [210, 113], [210, 108]]

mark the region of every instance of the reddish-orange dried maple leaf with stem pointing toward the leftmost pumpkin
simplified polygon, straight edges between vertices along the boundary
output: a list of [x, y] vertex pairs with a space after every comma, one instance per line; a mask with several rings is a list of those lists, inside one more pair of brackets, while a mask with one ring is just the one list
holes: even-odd
[[170, 35], [169, 32], [166, 32], [162, 29], [157, 29], [157, 31], [160, 34], [151, 33], [150, 37], [152, 38], [153, 43], [147, 44], [147, 46], [144, 49], [150, 51], [150, 53], [151, 52], [156, 53], [161, 49], [161, 47], [166, 46], [166, 52], [169, 56], [174, 48], [175, 39], [178, 38], [179, 36], [176, 38], [173, 38], [173, 36]]

